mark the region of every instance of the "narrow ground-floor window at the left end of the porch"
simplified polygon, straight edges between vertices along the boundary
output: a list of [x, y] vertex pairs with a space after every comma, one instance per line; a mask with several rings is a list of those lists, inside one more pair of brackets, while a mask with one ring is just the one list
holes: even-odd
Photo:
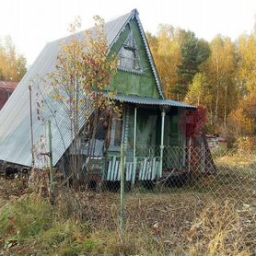
[[111, 148], [118, 149], [122, 142], [122, 118], [113, 116], [111, 123]]

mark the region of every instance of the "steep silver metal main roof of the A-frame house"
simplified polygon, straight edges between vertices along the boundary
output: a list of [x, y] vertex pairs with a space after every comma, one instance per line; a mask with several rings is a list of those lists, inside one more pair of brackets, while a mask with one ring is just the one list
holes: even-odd
[[[123, 29], [125, 29], [127, 23], [133, 18], [135, 18], [140, 29], [159, 94], [162, 99], [165, 99], [164, 91], [157, 74], [157, 68], [148, 47], [138, 12], [135, 9], [105, 24], [104, 31], [110, 48], [118, 41]], [[79, 33], [77, 36], [79, 36]], [[22, 166], [31, 166], [29, 83], [35, 76], [43, 77], [52, 73], [56, 64], [57, 53], [60, 51], [59, 45], [67, 41], [69, 41], [69, 37], [46, 44], [34, 64], [29, 68], [27, 74], [20, 81], [10, 99], [6, 102], [4, 108], [0, 111], [0, 160]], [[38, 86], [43, 90], [43, 85], [39, 84]], [[33, 89], [31, 105], [34, 142], [36, 143], [41, 140], [41, 135], [45, 134], [46, 128], [38, 121], [37, 99], [35, 97], [35, 90]], [[58, 109], [58, 104], [52, 106], [53, 111], [54, 108], [56, 111], [54, 117], [52, 117], [52, 111], [45, 109], [44, 112], [44, 116], [52, 119], [53, 165], [59, 161], [64, 155], [65, 150], [72, 143], [69, 127], [66, 125], [68, 119], [67, 114]], [[83, 123], [81, 123], [81, 126]]]

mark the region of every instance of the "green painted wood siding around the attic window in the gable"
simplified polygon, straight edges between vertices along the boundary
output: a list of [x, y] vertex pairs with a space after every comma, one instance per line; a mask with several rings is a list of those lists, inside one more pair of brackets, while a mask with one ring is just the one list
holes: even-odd
[[132, 19], [129, 24], [130, 25], [127, 24], [126, 28], [122, 31], [119, 40], [112, 46], [111, 55], [120, 51], [123, 41], [125, 41], [129, 35], [130, 29], [133, 29], [134, 39], [139, 49], [140, 65], [143, 69], [143, 74], [134, 74], [119, 70], [118, 74], [111, 82], [110, 90], [126, 95], [161, 99], [137, 23]]

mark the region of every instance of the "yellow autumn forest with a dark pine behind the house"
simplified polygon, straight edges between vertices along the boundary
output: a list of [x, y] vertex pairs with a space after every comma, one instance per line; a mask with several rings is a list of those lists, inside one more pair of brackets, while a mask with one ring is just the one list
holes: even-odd
[[[212, 41], [191, 30], [158, 26], [146, 33], [168, 99], [207, 111], [207, 134], [219, 134], [234, 145], [251, 144], [256, 134], [256, 29], [236, 41], [217, 35]], [[0, 80], [20, 81], [25, 56], [8, 36], [0, 41]]]

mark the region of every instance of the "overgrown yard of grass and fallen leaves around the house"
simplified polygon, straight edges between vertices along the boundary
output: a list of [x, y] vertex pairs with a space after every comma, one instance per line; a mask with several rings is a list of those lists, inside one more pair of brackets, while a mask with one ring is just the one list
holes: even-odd
[[255, 162], [233, 157], [216, 158], [217, 173], [194, 184], [128, 192], [124, 241], [118, 192], [62, 188], [52, 206], [24, 180], [2, 179], [0, 254], [252, 255]]

